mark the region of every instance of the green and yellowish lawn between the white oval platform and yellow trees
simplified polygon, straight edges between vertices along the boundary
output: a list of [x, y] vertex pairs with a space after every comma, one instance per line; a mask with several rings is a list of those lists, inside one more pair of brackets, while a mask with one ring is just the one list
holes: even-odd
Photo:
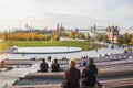
[[74, 46], [81, 47], [84, 51], [93, 48], [93, 46], [101, 47], [101, 45], [90, 44], [89, 42], [78, 41], [7, 41], [0, 43], [0, 51], [11, 46], [28, 47], [28, 46]]

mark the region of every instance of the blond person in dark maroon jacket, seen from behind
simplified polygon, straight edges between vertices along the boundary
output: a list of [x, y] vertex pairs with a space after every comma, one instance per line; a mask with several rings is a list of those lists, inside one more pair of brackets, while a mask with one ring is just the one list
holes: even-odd
[[80, 88], [80, 70], [75, 68], [75, 61], [69, 61], [69, 69], [64, 72], [64, 79], [68, 80], [69, 88]]

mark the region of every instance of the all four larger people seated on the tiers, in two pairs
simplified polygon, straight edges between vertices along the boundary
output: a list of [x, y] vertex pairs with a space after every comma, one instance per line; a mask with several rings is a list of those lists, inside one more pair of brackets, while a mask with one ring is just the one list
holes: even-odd
[[[75, 61], [70, 59], [69, 61], [69, 68], [64, 72], [64, 80], [65, 84], [62, 84], [62, 88], [64, 85], [68, 85], [68, 88], [94, 88], [98, 76], [98, 68], [94, 64], [93, 58], [89, 58], [89, 63], [86, 64], [85, 68], [82, 70], [78, 69], [75, 67]], [[45, 63], [45, 59], [40, 64], [41, 72], [48, 72], [48, 64]], [[54, 62], [51, 65], [52, 72], [60, 72], [60, 65], [58, 63], [58, 59], [54, 59]]]

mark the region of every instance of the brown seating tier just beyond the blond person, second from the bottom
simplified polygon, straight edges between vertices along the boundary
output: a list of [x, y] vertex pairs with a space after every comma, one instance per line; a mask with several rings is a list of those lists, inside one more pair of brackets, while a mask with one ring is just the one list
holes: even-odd
[[[133, 74], [133, 65], [123, 65], [123, 66], [116, 66], [116, 67], [103, 67], [99, 69], [99, 77], [103, 76], [119, 76], [119, 75], [132, 75]], [[81, 69], [82, 70], [82, 69]], [[64, 72], [57, 72], [57, 73], [30, 73], [25, 77], [32, 78], [32, 77], [55, 77], [61, 78], [63, 77]]]

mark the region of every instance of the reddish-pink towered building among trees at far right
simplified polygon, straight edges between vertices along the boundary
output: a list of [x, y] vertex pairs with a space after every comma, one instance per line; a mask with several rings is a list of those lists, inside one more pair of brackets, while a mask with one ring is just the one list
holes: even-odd
[[109, 26], [106, 35], [109, 37], [109, 41], [111, 43], [117, 43], [117, 37], [119, 37], [119, 28], [117, 26]]

